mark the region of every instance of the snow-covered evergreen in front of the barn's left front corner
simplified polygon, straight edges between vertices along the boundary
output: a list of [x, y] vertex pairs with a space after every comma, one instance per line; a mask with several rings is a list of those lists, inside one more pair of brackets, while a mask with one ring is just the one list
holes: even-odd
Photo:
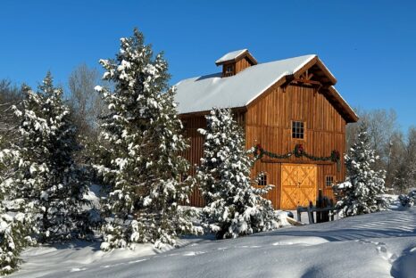
[[199, 130], [205, 139], [204, 158], [196, 174], [207, 202], [204, 227], [219, 239], [278, 228], [279, 217], [270, 200], [262, 198], [271, 187], [252, 186], [254, 160], [245, 150], [243, 130], [231, 110], [213, 109], [206, 121], [207, 129]]

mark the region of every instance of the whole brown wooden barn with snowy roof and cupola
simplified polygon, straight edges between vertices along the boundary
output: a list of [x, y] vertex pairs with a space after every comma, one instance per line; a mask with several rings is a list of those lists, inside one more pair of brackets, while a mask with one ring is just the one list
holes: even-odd
[[[275, 185], [265, 196], [275, 208], [307, 205], [319, 189], [332, 197], [331, 184], [345, 179], [345, 127], [358, 117], [318, 56], [258, 63], [244, 49], [215, 63], [222, 67], [219, 73], [177, 85], [191, 164], [203, 156], [204, 139], [197, 129], [205, 127], [204, 115], [212, 107], [232, 108], [245, 130], [246, 148], [254, 147], [259, 157], [252, 175], [265, 173], [258, 186]], [[191, 204], [204, 205], [197, 190]]]

